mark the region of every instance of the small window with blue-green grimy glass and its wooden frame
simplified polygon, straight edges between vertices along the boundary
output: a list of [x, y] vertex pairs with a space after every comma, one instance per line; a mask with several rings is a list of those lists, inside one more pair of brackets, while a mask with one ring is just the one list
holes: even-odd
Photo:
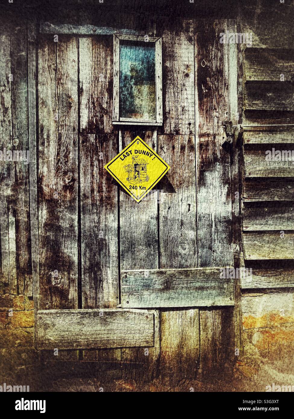
[[161, 38], [114, 35], [113, 124], [162, 125]]

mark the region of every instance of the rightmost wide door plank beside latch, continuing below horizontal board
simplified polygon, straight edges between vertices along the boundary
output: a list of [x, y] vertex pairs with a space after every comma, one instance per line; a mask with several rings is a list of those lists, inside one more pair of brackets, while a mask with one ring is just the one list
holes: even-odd
[[[195, 21], [199, 267], [233, 264], [230, 155], [221, 147], [229, 116], [226, 21]], [[234, 357], [234, 310], [200, 310], [201, 378], [215, 379]]]

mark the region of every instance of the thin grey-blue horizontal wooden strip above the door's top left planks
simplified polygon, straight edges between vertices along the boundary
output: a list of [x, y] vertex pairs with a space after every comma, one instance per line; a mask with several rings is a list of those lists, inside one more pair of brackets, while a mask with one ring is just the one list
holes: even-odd
[[[60, 24], [55, 25], [50, 22], [42, 22], [40, 24], [41, 34], [53, 35], [142, 35], [142, 31], [135, 31], [133, 29], [119, 29], [109, 26], [94, 26], [94, 25], [70, 25]], [[143, 34], [144, 35], [144, 34]]]

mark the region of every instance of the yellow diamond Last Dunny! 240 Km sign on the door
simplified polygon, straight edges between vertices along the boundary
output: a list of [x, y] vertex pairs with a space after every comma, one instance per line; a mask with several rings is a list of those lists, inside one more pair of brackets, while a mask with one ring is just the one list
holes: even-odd
[[137, 202], [140, 202], [170, 169], [139, 136], [104, 168]]

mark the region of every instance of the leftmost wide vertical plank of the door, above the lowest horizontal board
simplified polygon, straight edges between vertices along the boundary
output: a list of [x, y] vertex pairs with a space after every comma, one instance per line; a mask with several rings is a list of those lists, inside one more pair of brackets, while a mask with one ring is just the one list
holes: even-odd
[[78, 306], [77, 39], [39, 43], [40, 309]]

